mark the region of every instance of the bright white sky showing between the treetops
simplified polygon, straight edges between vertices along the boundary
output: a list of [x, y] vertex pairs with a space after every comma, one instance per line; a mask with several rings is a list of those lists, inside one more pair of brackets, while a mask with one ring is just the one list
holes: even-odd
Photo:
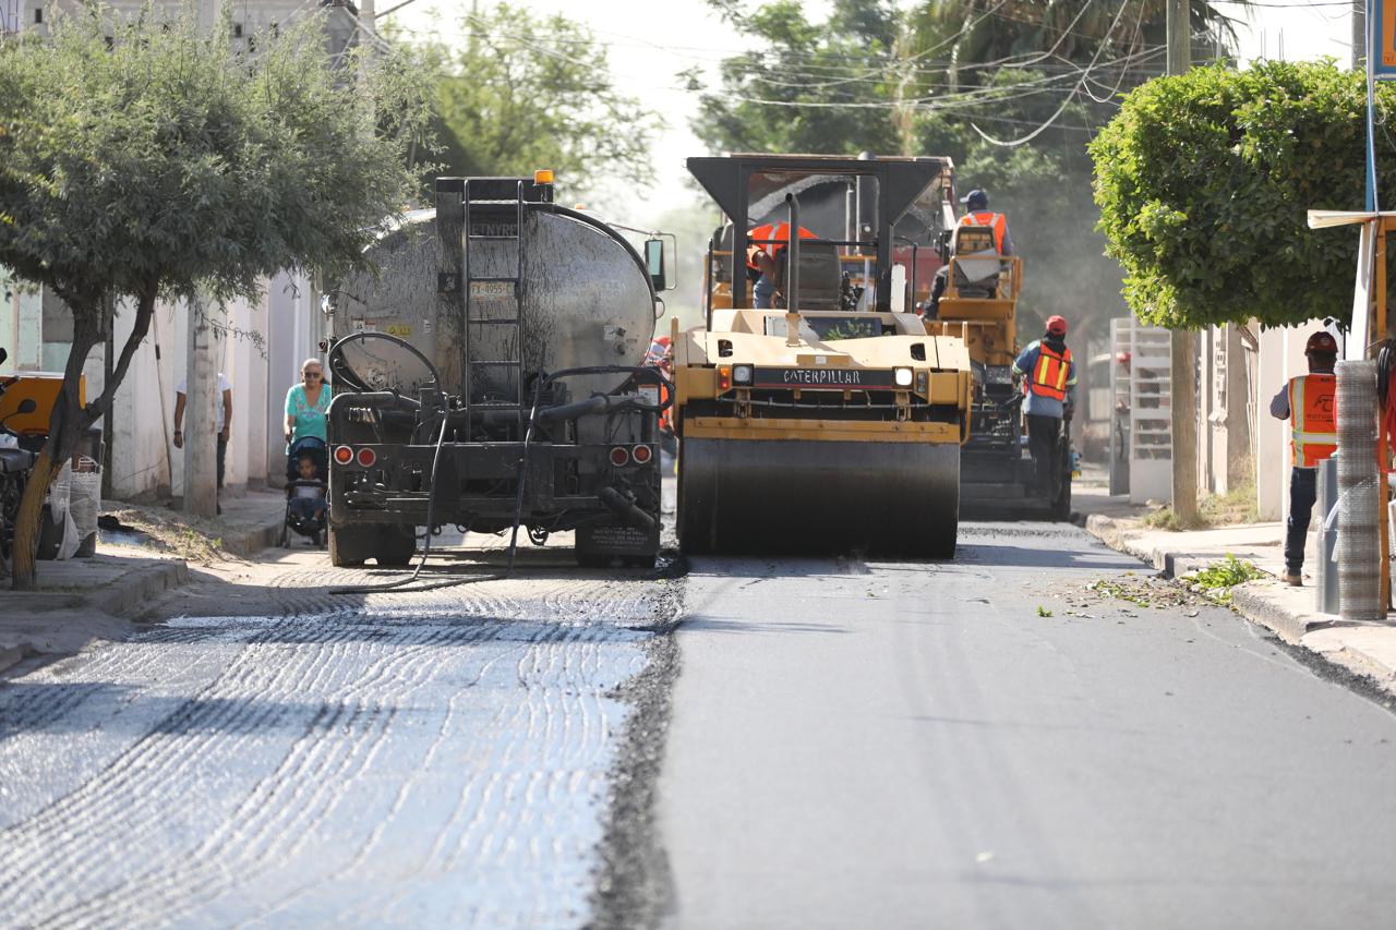
[[[378, 0], [378, 8], [387, 10], [392, 1]], [[1263, 1], [1269, 6], [1252, 7], [1249, 14], [1234, 3], [1219, 4], [1238, 18], [1238, 50], [1244, 63], [1258, 57], [1311, 60], [1333, 56], [1339, 61], [1349, 60], [1351, 27], [1346, 0]], [[479, 3], [483, 7], [491, 0]], [[745, 47], [706, 0], [512, 3], [537, 15], [561, 13], [589, 27], [609, 47], [616, 82], [659, 112], [666, 121], [653, 151], [658, 183], [652, 190], [617, 201], [614, 209], [618, 215], [614, 219], [651, 228], [666, 212], [692, 204], [684, 159], [706, 152], [690, 127], [695, 96], [680, 87], [676, 75], [699, 67], [712, 77], [723, 57]], [[819, 18], [828, 10], [828, 3], [821, 0], [805, 6], [811, 18]], [[459, 18], [469, 8], [470, 0], [415, 0], [391, 14], [391, 21], [412, 31], [454, 34], [461, 31]]]

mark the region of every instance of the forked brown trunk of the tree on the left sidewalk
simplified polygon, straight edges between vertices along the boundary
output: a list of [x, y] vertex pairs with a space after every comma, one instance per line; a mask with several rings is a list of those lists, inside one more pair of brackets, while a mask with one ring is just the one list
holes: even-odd
[[[68, 362], [63, 370], [63, 388], [59, 391], [59, 399], [49, 416], [49, 438], [39, 452], [39, 461], [34, 466], [28, 485], [24, 487], [20, 512], [15, 517], [14, 577], [10, 582], [15, 591], [34, 591], [38, 585], [35, 556], [39, 552], [43, 497], [49, 492], [49, 485], [57, 478], [59, 469], [63, 468], [63, 462], [73, 457], [82, 433], [112, 409], [116, 388], [126, 380], [131, 357], [149, 330], [151, 316], [155, 311], [155, 293], [156, 286], [152, 282], [147, 292], [138, 296], [131, 335], [121, 346], [121, 357], [112, 371], [112, 380], [102, 385], [102, 395], [87, 406], [82, 406], [78, 398], [78, 380], [82, 377], [82, 366], [87, 364], [88, 353], [102, 338], [101, 306], [94, 300], [73, 309], [73, 348], [68, 349]], [[68, 306], [73, 307], [73, 303], [75, 302], [70, 302]]]

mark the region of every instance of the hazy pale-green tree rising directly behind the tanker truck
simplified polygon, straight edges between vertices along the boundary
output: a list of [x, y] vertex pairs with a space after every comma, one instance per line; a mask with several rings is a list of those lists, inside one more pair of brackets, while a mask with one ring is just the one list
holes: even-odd
[[616, 88], [589, 29], [504, 3], [466, 15], [462, 27], [463, 42], [420, 47], [436, 70], [450, 173], [550, 168], [572, 193], [596, 191], [602, 179], [653, 182], [649, 148], [662, 121]]

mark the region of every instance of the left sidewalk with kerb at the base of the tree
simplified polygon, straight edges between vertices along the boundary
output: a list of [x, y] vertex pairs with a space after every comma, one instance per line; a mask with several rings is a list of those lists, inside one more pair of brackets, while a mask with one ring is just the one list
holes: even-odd
[[[105, 501], [102, 512], [158, 521], [200, 540], [216, 559], [251, 556], [278, 542], [286, 507], [279, 492], [250, 492], [222, 505], [214, 519], [121, 501]], [[120, 640], [154, 598], [190, 581], [188, 561], [181, 549], [149, 536], [99, 531], [92, 559], [40, 561], [38, 591], [13, 592], [10, 580], [0, 578], [0, 672], [31, 655], [68, 655], [95, 640]]]

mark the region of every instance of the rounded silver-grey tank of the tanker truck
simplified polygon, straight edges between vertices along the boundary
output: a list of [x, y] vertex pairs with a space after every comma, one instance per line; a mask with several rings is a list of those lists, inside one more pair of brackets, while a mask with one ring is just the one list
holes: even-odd
[[[514, 226], [498, 235], [501, 230], [493, 225], [473, 225], [472, 237], [462, 237], [470, 276], [515, 276]], [[369, 247], [377, 274], [352, 275], [331, 285], [327, 307], [334, 314], [335, 338], [363, 330], [399, 337], [433, 360], [447, 392], [461, 394], [465, 304], [438, 295], [441, 240], [434, 226], [434, 209], [405, 215]], [[490, 237], [480, 239], [482, 235]], [[526, 371], [644, 362], [655, 330], [655, 297], [645, 265], [630, 243], [584, 214], [553, 207], [525, 214], [522, 251], [524, 268], [518, 276]], [[512, 288], [500, 281], [473, 282], [472, 318], [512, 314]], [[514, 327], [469, 325], [466, 338], [475, 341], [472, 357], [517, 357], [517, 332]], [[401, 352], [380, 341], [356, 350], [355, 367], [409, 394], [424, 380], [419, 364], [405, 364]], [[512, 394], [510, 377], [475, 371], [472, 399], [491, 391]], [[571, 385], [585, 397], [614, 390], [621, 377], [589, 376], [574, 378]]]

